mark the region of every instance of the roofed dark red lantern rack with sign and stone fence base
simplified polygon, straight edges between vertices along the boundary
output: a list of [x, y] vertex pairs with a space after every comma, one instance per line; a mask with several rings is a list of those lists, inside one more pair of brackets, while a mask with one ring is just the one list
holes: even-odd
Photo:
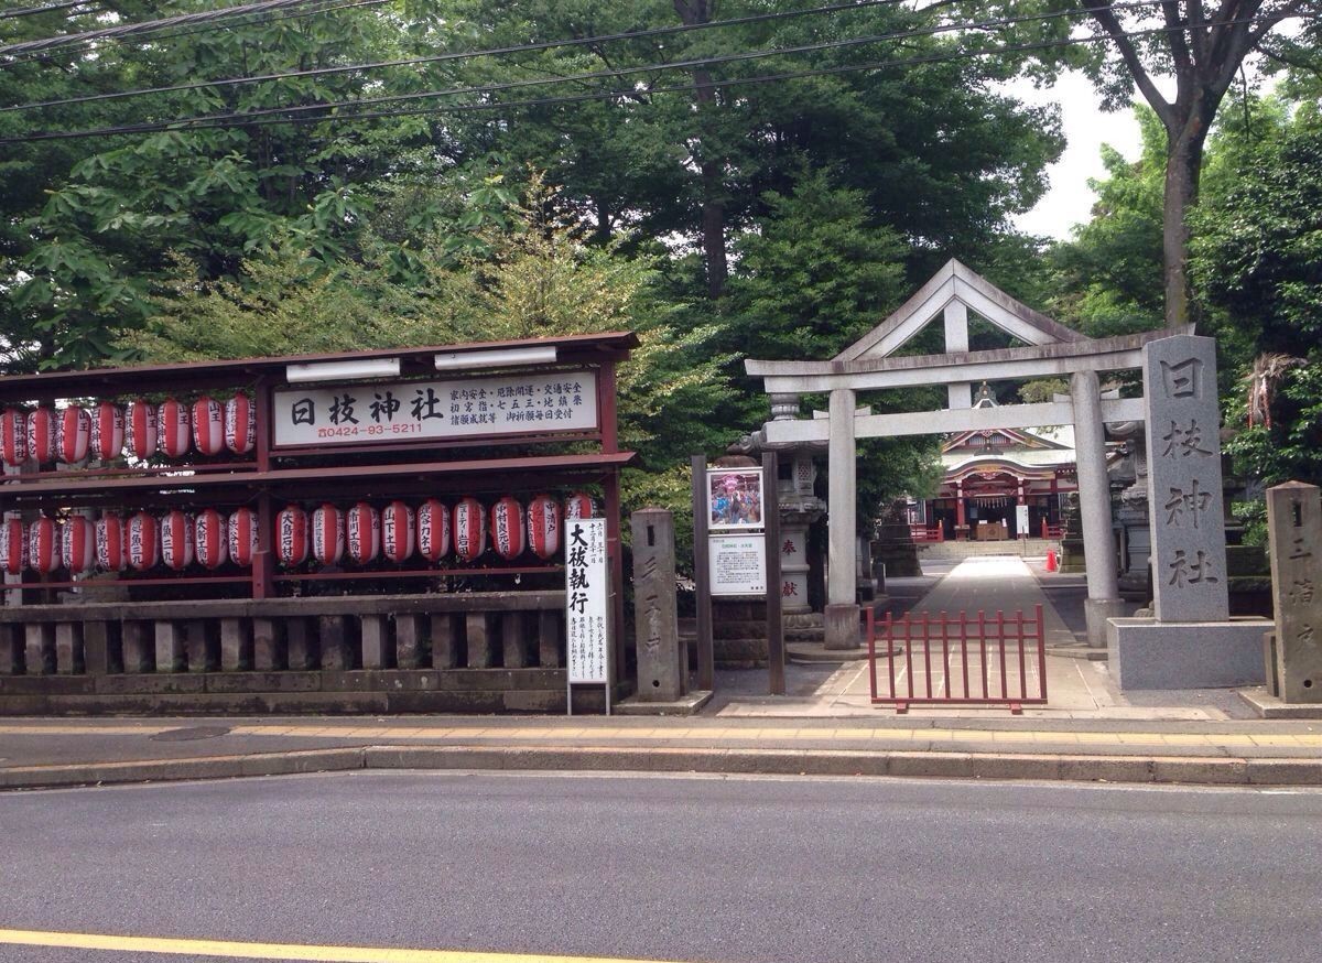
[[619, 471], [633, 454], [615, 370], [636, 344], [0, 378], [0, 714], [563, 710], [554, 532], [594, 504], [619, 687]]

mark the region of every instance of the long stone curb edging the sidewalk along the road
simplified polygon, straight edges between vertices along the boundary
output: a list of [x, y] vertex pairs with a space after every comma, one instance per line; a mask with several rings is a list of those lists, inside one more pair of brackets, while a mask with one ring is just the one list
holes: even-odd
[[1322, 786], [1322, 759], [572, 746], [368, 746], [0, 770], [0, 790], [349, 770], [846, 775], [908, 779]]

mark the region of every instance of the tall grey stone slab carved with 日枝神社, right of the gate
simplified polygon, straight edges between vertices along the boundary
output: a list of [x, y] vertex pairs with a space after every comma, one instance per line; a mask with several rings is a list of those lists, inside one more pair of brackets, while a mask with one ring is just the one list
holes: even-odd
[[1154, 615], [1225, 622], [1216, 341], [1163, 337], [1144, 347]]

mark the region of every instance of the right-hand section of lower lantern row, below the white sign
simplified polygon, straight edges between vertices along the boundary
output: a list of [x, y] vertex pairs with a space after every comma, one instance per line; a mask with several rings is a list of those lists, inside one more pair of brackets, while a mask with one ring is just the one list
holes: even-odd
[[[550, 495], [538, 495], [525, 511], [513, 496], [497, 499], [489, 509], [473, 497], [453, 508], [427, 499], [415, 509], [391, 501], [379, 512], [365, 501], [344, 511], [324, 504], [308, 513], [288, 505], [275, 520], [275, 554], [287, 566], [315, 558], [338, 565], [345, 556], [362, 565], [378, 556], [405, 562], [415, 552], [428, 562], [453, 549], [461, 562], [472, 562], [490, 549], [506, 561], [531, 550], [551, 558], [561, 550], [562, 519], [592, 517], [592, 499], [582, 492], [566, 499], [563, 508]], [[489, 523], [489, 525], [488, 525]]]

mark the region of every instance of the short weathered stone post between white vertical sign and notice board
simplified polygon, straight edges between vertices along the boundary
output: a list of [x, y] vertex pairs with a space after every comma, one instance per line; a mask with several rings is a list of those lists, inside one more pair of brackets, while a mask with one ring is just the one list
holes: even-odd
[[687, 691], [687, 649], [680, 643], [674, 585], [674, 515], [641, 508], [633, 532], [633, 627], [639, 701], [674, 702]]

